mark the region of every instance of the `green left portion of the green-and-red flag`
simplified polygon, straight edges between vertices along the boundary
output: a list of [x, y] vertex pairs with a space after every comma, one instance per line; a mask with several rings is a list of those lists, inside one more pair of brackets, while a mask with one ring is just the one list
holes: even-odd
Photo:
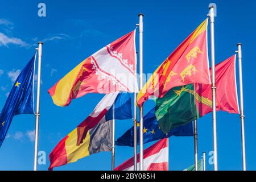
[[193, 84], [177, 86], [155, 102], [156, 119], [164, 133], [200, 118]]

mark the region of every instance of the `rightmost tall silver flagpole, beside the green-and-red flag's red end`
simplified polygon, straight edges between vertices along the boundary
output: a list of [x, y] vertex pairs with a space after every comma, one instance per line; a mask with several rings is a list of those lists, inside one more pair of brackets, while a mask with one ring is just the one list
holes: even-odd
[[243, 171], [246, 171], [245, 155], [245, 114], [243, 113], [243, 77], [242, 77], [242, 44], [238, 43], [238, 69], [239, 69], [239, 88], [240, 88], [240, 118], [241, 118], [241, 137], [242, 137], [242, 162]]

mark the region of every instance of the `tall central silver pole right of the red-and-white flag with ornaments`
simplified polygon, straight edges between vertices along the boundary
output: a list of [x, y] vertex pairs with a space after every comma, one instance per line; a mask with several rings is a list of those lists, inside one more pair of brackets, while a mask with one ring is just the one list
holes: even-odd
[[[143, 88], [143, 14], [139, 14], [139, 88]], [[143, 171], [143, 106], [139, 110], [139, 170]]]

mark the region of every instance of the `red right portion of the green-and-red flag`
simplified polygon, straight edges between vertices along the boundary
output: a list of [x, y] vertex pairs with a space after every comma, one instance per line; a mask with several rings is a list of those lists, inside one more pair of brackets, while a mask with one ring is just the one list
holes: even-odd
[[[212, 70], [210, 69], [210, 75]], [[236, 82], [236, 55], [233, 55], [215, 66], [216, 76], [216, 110], [239, 114], [237, 82]], [[212, 98], [211, 85], [196, 84], [197, 93], [205, 98]], [[212, 107], [199, 105], [197, 108], [200, 115], [212, 111]]]

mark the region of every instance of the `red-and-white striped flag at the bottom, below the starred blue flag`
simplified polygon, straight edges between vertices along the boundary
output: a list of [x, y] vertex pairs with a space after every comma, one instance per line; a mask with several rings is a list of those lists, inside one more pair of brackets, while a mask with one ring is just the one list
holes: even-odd
[[[143, 169], [146, 171], [168, 171], [168, 138], [164, 138], [143, 151]], [[139, 166], [139, 154], [137, 154]], [[115, 171], [133, 171], [134, 158], [126, 160]]]

